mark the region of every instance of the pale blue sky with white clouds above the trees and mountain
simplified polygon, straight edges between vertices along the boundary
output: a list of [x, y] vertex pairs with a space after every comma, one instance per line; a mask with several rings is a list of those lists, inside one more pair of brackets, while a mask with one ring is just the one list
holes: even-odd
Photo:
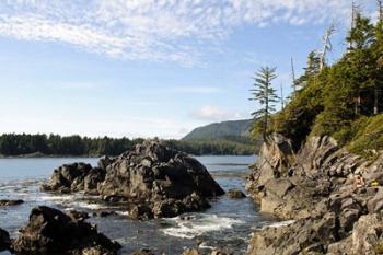
[[[375, 0], [357, 1], [375, 16]], [[0, 0], [0, 134], [182, 138], [251, 118], [253, 77], [290, 91], [351, 0]]]

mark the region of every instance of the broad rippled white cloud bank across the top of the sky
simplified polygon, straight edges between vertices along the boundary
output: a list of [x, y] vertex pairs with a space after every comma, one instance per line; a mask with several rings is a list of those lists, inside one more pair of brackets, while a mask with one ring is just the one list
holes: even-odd
[[209, 43], [236, 26], [344, 21], [349, 5], [349, 0], [7, 0], [0, 2], [0, 36], [193, 66]]

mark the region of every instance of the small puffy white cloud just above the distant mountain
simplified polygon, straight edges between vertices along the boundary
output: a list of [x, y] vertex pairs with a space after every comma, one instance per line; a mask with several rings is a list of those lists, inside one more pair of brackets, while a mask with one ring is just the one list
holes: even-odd
[[214, 105], [204, 105], [196, 112], [192, 113], [192, 117], [198, 120], [220, 121], [241, 118], [241, 115]]

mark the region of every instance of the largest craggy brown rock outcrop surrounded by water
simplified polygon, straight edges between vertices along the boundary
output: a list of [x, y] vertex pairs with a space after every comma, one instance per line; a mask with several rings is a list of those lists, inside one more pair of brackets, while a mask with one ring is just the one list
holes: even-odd
[[224, 194], [196, 159], [160, 141], [148, 140], [98, 167], [74, 163], [55, 170], [47, 192], [85, 192], [109, 202], [128, 204], [132, 218], [174, 217], [209, 207], [207, 198]]

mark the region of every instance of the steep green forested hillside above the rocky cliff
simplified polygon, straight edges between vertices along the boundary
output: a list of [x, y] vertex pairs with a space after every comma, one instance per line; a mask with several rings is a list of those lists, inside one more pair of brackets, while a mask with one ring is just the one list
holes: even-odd
[[355, 153], [383, 149], [383, 15], [373, 24], [360, 12], [349, 31], [347, 51], [332, 66], [321, 54], [309, 56], [297, 92], [271, 118], [268, 131], [293, 140], [328, 135]]

